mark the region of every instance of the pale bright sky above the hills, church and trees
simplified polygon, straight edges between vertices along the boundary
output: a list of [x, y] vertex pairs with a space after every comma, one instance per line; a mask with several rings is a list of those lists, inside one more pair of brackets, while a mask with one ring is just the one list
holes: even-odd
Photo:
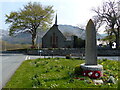
[[[5, 24], [6, 14], [18, 11], [28, 2], [40, 2], [44, 6], [53, 5], [58, 24], [86, 26], [88, 20], [96, 15], [92, 9], [101, 6], [104, 1], [108, 0], [0, 0], [0, 29], [9, 29], [10, 24]], [[53, 19], [53, 24], [54, 21]], [[103, 33], [103, 28], [99, 33]]]

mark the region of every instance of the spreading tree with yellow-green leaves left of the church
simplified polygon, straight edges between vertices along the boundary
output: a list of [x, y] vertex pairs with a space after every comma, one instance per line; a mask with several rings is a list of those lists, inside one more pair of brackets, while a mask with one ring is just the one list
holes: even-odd
[[41, 4], [29, 2], [17, 12], [6, 15], [6, 23], [11, 24], [9, 35], [20, 32], [29, 32], [32, 36], [32, 46], [35, 46], [38, 28], [45, 29], [52, 23], [53, 6], [42, 6]]

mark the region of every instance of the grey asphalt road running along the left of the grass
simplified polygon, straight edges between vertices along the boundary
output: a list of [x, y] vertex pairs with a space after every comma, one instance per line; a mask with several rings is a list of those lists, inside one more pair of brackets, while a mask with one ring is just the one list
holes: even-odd
[[0, 74], [0, 77], [2, 77], [2, 87], [4, 87], [26, 56], [22, 54], [2, 54], [0, 57], [2, 57], [2, 74]]

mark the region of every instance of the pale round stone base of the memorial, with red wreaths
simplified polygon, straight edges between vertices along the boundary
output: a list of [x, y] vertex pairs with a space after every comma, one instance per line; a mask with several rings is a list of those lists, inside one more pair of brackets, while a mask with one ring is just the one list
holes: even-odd
[[90, 78], [100, 78], [103, 76], [103, 66], [102, 65], [80, 65], [82, 69], [82, 75], [88, 76]]

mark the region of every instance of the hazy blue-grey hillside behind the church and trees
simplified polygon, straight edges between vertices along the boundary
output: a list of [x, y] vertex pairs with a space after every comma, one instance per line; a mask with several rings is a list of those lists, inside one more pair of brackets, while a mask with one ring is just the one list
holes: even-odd
[[[80, 29], [79, 27], [71, 26], [71, 25], [59, 25], [58, 28], [64, 34], [64, 36], [69, 37], [71, 35], [76, 35], [79, 38], [85, 39], [84, 29]], [[37, 43], [42, 42], [41, 38], [47, 31], [38, 32]], [[28, 32], [18, 33], [16, 36], [9, 36], [7, 30], [0, 30], [0, 33], [1, 33], [0, 39], [2, 39], [3, 41], [7, 41], [8, 43], [31, 44], [31, 35]], [[97, 38], [103, 38], [103, 37], [97, 33]]]

